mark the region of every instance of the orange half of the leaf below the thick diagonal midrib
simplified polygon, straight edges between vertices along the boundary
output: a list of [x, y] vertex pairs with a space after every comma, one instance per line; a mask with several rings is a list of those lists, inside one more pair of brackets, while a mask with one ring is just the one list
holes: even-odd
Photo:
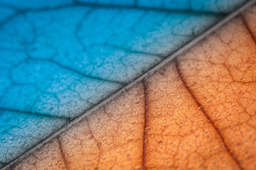
[[255, 169], [255, 9], [12, 168]]

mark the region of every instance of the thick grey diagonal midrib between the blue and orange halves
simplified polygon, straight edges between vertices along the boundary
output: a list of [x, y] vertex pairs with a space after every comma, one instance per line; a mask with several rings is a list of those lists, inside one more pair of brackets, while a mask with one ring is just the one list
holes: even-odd
[[196, 45], [199, 41], [203, 40], [208, 35], [213, 33], [215, 30], [217, 30], [218, 28], [223, 26], [225, 23], [228, 23], [228, 21], [230, 21], [231, 19], [235, 18], [235, 16], [238, 16], [238, 14], [240, 12], [242, 12], [246, 8], [252, 6], [252, 4], [255, 4], [255, 1], [256, 0], [247, 1], [247, 3], [243, 4], [242, 6], [240, 6], [240, 8], [237, 8], [235, 11], [233, 11], [230, 14], [228, 14], [228, 16], [225, 16], [223, 19], [221, 19], [218, 23], [215, 24], [215, 26], [213, 26], [213, 27], [209, 28], [208, 30], [206, 30], [205, 32], [201, 33], [201, 35], [196, 36], [196, 38], [193, 38], [193, 40], [187, 42], [185, 45], [183, 45], [178, 50], [176, 50], [171, 55], [169, 55], [169, 57], [166, 57], [164, 60], [159, 62], [159, 64], [156, 64], [154, 67], [149, 68], [147, 72], [144, 72], [144, 74], [142, 74], [140, 77], [137, 77], [137, 79], [134, 79], [134, 81], [132, 81], [131, 83], [127, 84], [127, 86], [124, 86], [122, 89], [120, 89], [116, 93], [112, 94], [112, 96], [106, 98], [105, 100], [101, 101], [100, 103], [97, 103], [95, 106], [90, 108], [90, 110], [85, 111], [85, 113], [83, 113], [82, 115], [80, 115], [77, 118], [71, 120], [70, 123], [65, 125], [63, 128], [60, 128], [60, 130], [57, 130], [50, 137], [47, 137], [46, 140], [43, 140], [42, 142], [40, 142], [38, 145], [36, 145], [36, 147], [32, 147], [27, 152], [24, 152], [24, 154], [22, 154], [20, 157], [14, 159], [14, 161], [9, 162], [9, 164], [4, 166], [4, 168], [2, 168], [1, 170], [7, 170], [7, 169], [11, 168], [19, 160], [21, 160], [21, 159], [25, 158], [27, 155], [33, 153], [36, 149], [42, 147], [44, 144], [46, 144], [47, 142], [52, 140], [54, 137], [57, 137], [58, 135], [60, 135], [60, 133], [64, 132], [66, 129], [70, 128], [75, 123], [80, 122], [80, 120], [84, 119], [87, 115], [90, 115], [93, 112], [97, 111], [98, 108], [102, 107], [103, 105], [105, 105], [109, 101], [112, 101], [114, 98], [116, 98], [117, 96], [122, 94], [124, 91], [127, 91], [127, 89], [132, 88], [132, 86], [134, 86], [135, 84], [141, 82], [146, 77], [149, 77], [150, 75], [154, 74], [154, 72], [159, 70], [161, 67], [164, 67], [164, 65], [166, 65], [169, 62], [171, 62], [171, 60], [173, 60], [174, 57], [177, 57], [178, 55], [181, 55], [183, 52], [186, 52], [188, 49], [193, 47], [193, 45]]

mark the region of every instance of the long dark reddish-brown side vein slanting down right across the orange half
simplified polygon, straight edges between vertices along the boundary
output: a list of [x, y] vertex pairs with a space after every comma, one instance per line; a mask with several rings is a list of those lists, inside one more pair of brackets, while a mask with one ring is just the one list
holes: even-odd
[[242, 169], [242, 166], [240, 164], [240, 162], [238, 161], [238, 159], [236, 159], [235, 155], [230, 151], [230, 148], [228, 147], [228, 145], [226, 145], [225, 140], [223, 135], [221, 134], [220, 130], [215, 126], [215, 124], [213, 123], [213, 120], [210, 118], [210, 116], [208, 115], [208, 113], [204, 110], [204, 107], [202, 106], [202, 104], [198, 101], [198, 99], [196, 98], [196, 96], [193, 94], [193, 92], [191, 91], [191, 89], [188, 87], [188, 84], [186, 83], [183, 75], [181, 74], [181, 70], [178, 67], [178, 61], [177, 59], [174, 60], [175, 61], [175, 65], [176, 65], [176, 70], [178, 72], [178, 77], [180, 77], [181, 81], [183, 82], [183, 85], [186, 87], [187, 91], [189, 94], [191, 94], [193, 100], [196, 102], [196, 104], [198, 105], [198, 107], [200, 108], [200, 110], [203, 112], [203, 115], [206, 116], [208, 123], [210, 123], [214, 130], [218, 133], [220, 140], [222, 140], [223, 145], [225, 147], [225, 149], [227, 149], [228, 153], [230, 154], [230, 156], [233, 158], [233, 160], [235, 161], [235, 163], [238, 165], [238, 167], [240, 169]]

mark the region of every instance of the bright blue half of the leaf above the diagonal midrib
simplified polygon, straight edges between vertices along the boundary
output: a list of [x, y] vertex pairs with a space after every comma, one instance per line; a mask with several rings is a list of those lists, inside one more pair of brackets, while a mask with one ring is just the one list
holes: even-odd
[[0, 166], [243, 2], [0, 0]]

